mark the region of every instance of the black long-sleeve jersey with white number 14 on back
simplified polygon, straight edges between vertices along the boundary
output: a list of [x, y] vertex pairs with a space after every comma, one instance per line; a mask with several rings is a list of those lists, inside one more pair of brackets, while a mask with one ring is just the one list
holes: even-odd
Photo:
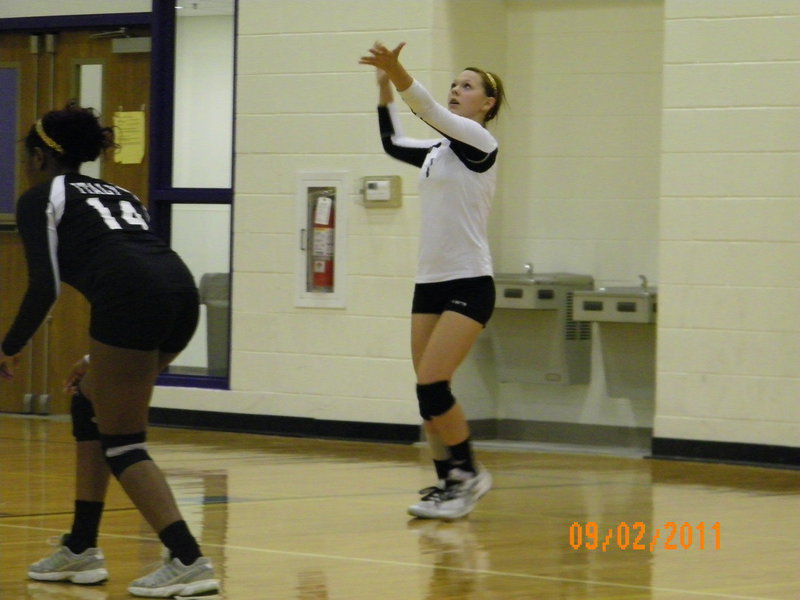
[[139, 199], [100, 179], [67, 173], [31, 188], [17, 203], [17, 227], [28, 289], [2, 343], [7, 356], [39, 328], [62, 281], [93, 305], [194, 286], [178, 255], [150, 231]]

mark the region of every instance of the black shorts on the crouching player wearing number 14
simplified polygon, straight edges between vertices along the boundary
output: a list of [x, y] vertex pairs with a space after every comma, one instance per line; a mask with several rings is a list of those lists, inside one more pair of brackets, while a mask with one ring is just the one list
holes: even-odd
[[178, 353], [197, 328], [196, 289], [132, 294], [92, 302], [89, 334], [109, 346]]

